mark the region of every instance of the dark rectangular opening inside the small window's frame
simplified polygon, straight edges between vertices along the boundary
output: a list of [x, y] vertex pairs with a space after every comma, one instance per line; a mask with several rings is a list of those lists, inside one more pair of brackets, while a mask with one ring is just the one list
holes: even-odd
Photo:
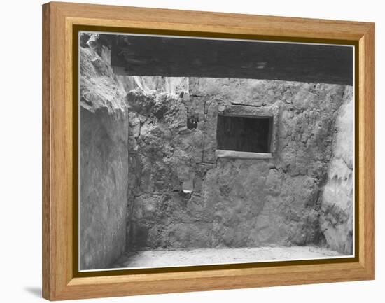
[[218, 115], [217, 148], [251, 153], [270, 153], [272, 117]]

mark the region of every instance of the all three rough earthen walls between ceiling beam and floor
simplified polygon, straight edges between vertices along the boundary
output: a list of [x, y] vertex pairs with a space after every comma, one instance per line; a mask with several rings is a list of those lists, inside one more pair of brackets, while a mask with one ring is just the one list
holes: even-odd
[[[80, 269], [158, 248], [351, 253], [351, 87], [116, 76], [109, 56], [82, 40]], [[218, 113], [274, 116], [272, 158], [218, 158]]]

